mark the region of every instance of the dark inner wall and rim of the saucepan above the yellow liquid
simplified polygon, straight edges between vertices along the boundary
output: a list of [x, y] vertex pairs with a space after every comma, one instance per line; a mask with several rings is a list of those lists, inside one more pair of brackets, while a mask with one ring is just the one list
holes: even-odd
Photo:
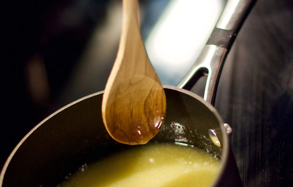
[[[167, 111], [163, 128], [151, 141], [181, 142], [208, 149], [222, 158], [222, 176], [228, 157], [228, 137], [217, 111], [201, 97], [164, 86]], [[102, 116], [103, 92], [81, 98], [53, 113], [16, 146], [1, 172], [0, 186], [56, 186], [84, 163], [133, 146], [114, 141]], [[218, 129], [222, 147], [209, 139], [208, 129]], [[222, 133], [221, 133], [222, 132]]]

